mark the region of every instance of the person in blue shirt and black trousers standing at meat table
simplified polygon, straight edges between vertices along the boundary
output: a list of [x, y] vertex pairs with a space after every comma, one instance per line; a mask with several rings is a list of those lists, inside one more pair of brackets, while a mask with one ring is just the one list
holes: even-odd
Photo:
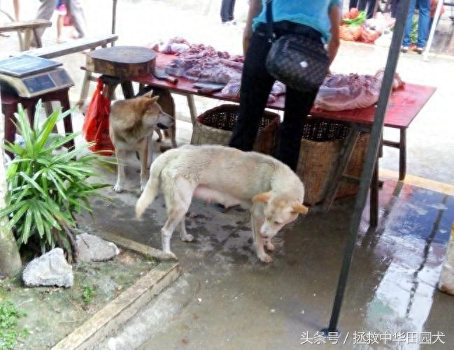
[[[271, 48], [267, 31], [266, 3], [251, 0], [243, 31], [244, 65], [241, 75], [239, 116], [229, 146], [243, 151], [253, 150], [260, 119], [267, 105], [271, 87], [276, 81], [267, 71], [265, 61]], [[329, 61], [339, 48], [341, 22], [340, 0], [295, 1], [271, 0], [276, 38], [285, 34], [301, 34], [320, 45], [327, 43]], [[328, 73], [328, 72], [327, 72]], [[304, 122], [310, 112], [318, 88], [307, 92], [286, 87], [284, 119], [279, 126], [276, 158], [297, 169]]]

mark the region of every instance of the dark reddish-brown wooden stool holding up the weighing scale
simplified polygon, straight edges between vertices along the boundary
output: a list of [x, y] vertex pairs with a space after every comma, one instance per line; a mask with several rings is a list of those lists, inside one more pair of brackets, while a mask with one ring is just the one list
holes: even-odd
[[[62, 105], [63, 111], [69, 110], [71, 108], [71, 105], [69, 103], [68, 90], [69, 87], [66, 87], [64, 89], [60, 89], [54, 92], [48, 92], [47, 94], [42, 94], [31, 98], [17, 96], [17, 94], [15, 94], [14, 92], [7, 92], [2, 90], [0, 94], [1, 94], [1, 110], [5, 115], [5, 141], [13, 143], [15, 140], [16, 127], [14, 123], [16, 122], [16, 118], [14, 113], [17, 112], [18, 103], [22, 103], [22, 107], [24, 109], [27, 108], [29, 120], [31, 124], [33, 124], [36, 103], [38, 103], [39, 99], [41, 99], [41, 101], [43, 102], [59, 101], [60, 105]], [[65, 133], [73, 133], [71, 114], [66, 115], [66, 117], [64, 117], [63, 125]], [[74, 148], [74, 140], [69, 141], [64, 146], [70, 149]], [[8, 155], [13, 156], [13, 154], [10, 154], [10, 152], [8, 152]]]

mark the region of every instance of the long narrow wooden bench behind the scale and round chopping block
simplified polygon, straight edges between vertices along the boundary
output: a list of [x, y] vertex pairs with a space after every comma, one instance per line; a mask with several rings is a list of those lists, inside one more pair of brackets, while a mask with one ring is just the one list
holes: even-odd
[[[67, 43], [49, 45], [45, 46], [44, 48], [37, 48], [34, 50], [24, 51], [20, 52], [20, 54], [31, 54], [45, 59], [52, 59], [55, 57], [61, 57], [66, 54], [73, 54], [85, 50], [96, 50], [99, 47], [106, 48], [108, 44], [113, 45], [113, 43], [117, 40], [118, 35], [116, 34], [92, 36], [90, 38], [81, 38], [75, 41], [69, 41]], [[81, 100], [85, 100], [87, 98], [90, 82], [95, 80], [96, 78], [93, 77], [92, 72], [85, 71], [83, 85], [80, 91]]]

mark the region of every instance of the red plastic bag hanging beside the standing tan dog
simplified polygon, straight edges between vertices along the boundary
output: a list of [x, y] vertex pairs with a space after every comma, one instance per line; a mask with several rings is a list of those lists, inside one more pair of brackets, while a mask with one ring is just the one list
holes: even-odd
[[89, 147], [90, 150], [111, 156], [112, 152], [115, 151], [108, 133], [108, 116], [111, 112], [111, 101], [103, 95], [103, 89], [104, 83], [98, 79], [97, 88], [85, 114], [82, 133], [85, 140], [94, 143]]

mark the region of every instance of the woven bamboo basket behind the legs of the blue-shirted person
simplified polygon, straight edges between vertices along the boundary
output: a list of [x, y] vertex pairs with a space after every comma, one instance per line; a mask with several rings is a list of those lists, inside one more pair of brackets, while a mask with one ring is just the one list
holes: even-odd
[[[228, 145], [238, 118], [238, 109], [238, 105], [224, 104], [199, 115], [192, 129], [191, 145]], [[264, 112], [254, 143], [256, 152], [274, 154], [279, 122], [278, 114]]]

